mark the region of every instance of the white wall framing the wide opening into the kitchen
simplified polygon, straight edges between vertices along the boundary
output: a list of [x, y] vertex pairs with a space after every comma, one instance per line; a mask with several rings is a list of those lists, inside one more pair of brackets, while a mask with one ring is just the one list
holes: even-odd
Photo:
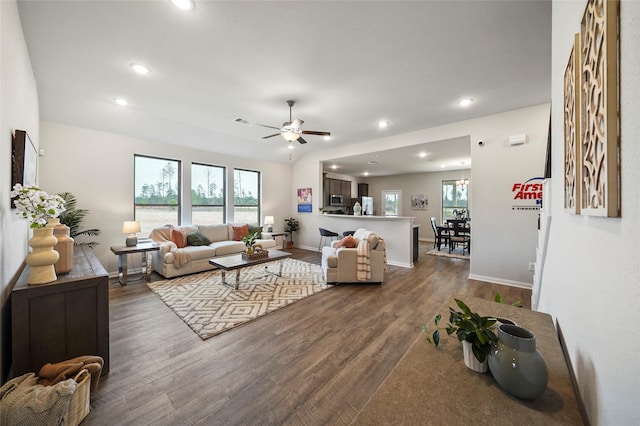
[[[530, 287], [533, 273], [528, 270], [528, 264], [535, 261], [538, 213], [512, 210], [511, 187], [513, 183], [543, 174], [548, 129], [549, 105], [544, 104], [328, 149], [308, 154], [294, 165], [292, 191], [311, 187], [315, 194], [320, 190], [321, 161], [468, 136], [473, 182], [470, 277]], [[509, 136], [523, 133], [528, 135], [527, 143], [509, 145]], [[485, 146], [478, 147], [478, 140], [484, 140]], [[314, 205], [313, 213], [297, 214], [301, 225], [297, 242], [311, 249], [317, 247], [320, 238], [316, 207]], [[295, 211], [293, 203], [291, 208]]]

